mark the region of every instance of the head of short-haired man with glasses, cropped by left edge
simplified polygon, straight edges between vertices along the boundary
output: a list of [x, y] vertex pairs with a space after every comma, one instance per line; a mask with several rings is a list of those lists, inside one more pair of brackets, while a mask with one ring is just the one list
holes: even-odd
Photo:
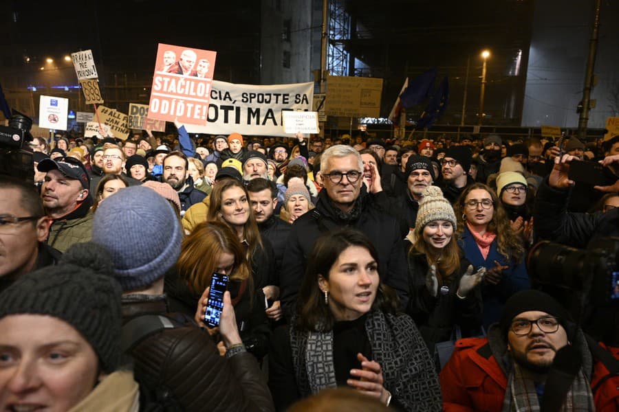
[[0, 291], [21, 275], [56, 264], [61, 253], [47, 246], [50, 220], [32, 185], [0, 179]]

